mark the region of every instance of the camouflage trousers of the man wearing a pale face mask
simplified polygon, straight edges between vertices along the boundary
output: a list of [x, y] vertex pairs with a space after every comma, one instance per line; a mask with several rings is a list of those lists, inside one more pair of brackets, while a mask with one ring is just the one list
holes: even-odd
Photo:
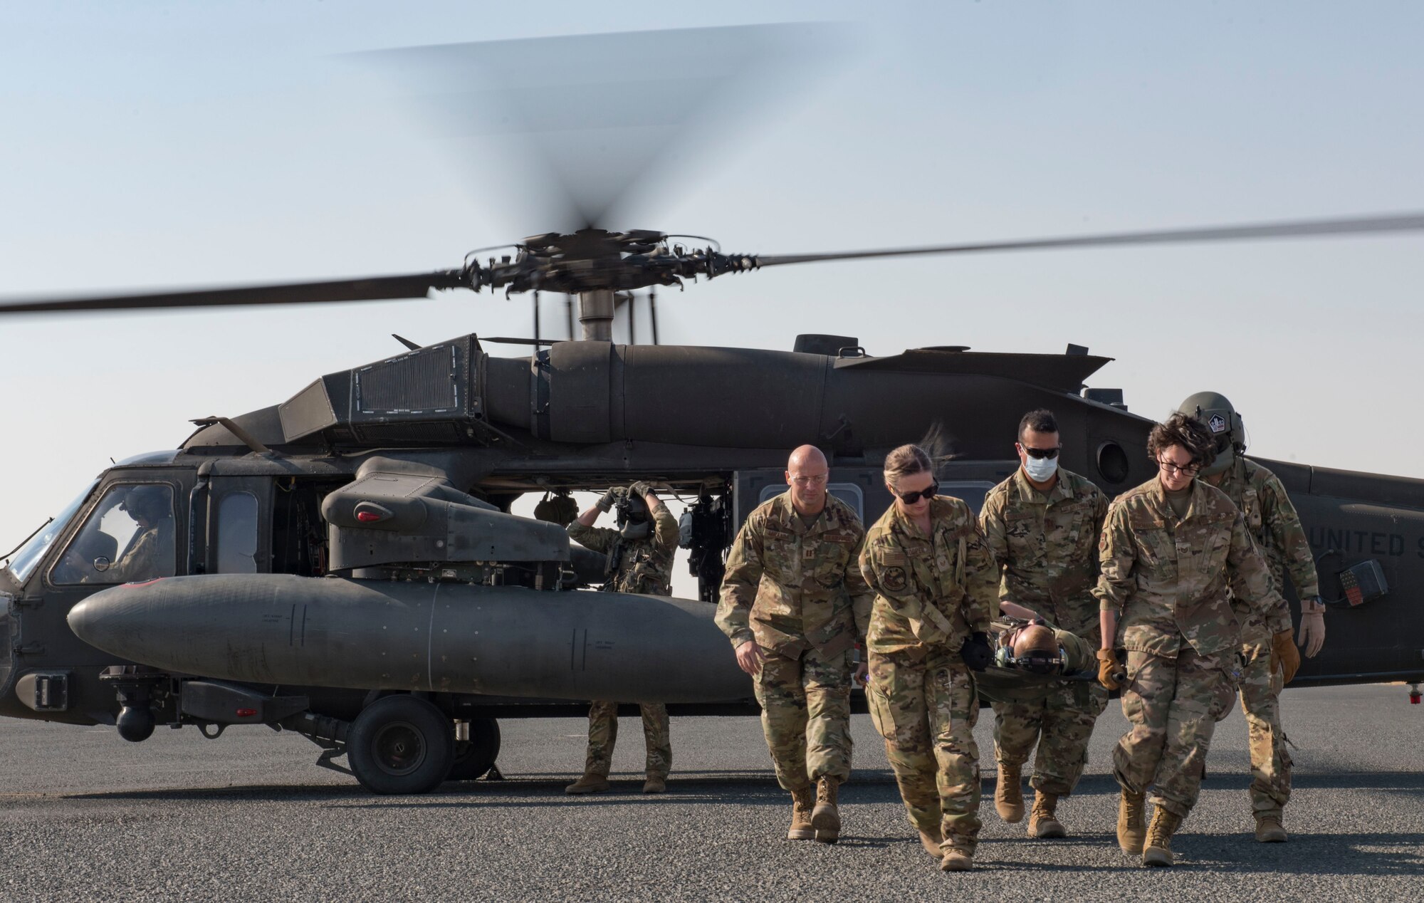
[[994, 756], [1021, 766], [1038, 745], [1035, 790], [1068, 796], [1088, 763], [1092, 725], [1108, 708], [1108, 691], [1096, 681], [1055, 681], [1042, 699], [993, 702]]

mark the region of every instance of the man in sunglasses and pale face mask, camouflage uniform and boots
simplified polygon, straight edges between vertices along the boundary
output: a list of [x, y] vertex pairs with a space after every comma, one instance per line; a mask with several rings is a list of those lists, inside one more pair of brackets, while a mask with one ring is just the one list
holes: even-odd
[[[1032, 410], [1018, 424], [1020, 467], [984, 497], [980, 527], [1001, 574], [1000, 608], [1098, 642], [1098, 534], [1108, 499], [1087, 477], [1058, 466], [1062, 443], [1052, 412]], [[998, 783], [994, 808], [1005, 822], [1024, 818], [1021, 769], [1038, 746], [1030, 837], [1064, 837], [1061, 796], [1072, 793], [1088, 761], [1088, 739], [1108, 691], [1096, 682], [1052, 681], [1041, 696], [993, 702]]]

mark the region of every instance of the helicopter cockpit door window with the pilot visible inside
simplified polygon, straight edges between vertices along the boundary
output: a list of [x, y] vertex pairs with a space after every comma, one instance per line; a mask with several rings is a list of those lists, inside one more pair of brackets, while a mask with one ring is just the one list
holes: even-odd
[[50, 571], [56, 584], [114, 584], [172, 577], [172, 489], [111, 486]]

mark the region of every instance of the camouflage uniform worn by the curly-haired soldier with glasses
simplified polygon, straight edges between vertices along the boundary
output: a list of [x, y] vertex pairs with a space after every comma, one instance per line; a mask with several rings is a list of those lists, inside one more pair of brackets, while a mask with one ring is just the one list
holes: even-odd
[[1118, 642], [1128, 651], [1122, 714], [1132, 728], [1114, 751], [1114, 773], [1129, 793], [1155, 786], [1152, 802], [1185, 818], [1212, 732], [1236, 695], [1232, 594], [1272, 632], [1290, 630], [1290, 612], [1236, 506], [1202, 480], [1192, 481], [1180, 520], [1156, 477], [1118, 496], [1099, 560], [1094, 595], [1119, 612]]

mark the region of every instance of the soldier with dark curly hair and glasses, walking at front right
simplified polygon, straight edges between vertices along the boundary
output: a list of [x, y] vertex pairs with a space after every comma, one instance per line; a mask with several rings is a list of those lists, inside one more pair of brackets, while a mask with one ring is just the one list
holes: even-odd
[[[1118, 496], [1098, 541], [1102, 648], [1098, 679], [1122, 691], [1131, 729], [1112, 755], [1122, 788], [1118, 843], [1142, 865], [1172, 865], [1172, 835], [1196, 805], [1216, 722], [1236, 698], [1240, 628], [1232, 597], [1259, 611], [1287, 672], [1300, 657], [1290, 612], [1270, 584], [1246, 521], [1219, 489], [1198, 480], [1216, 452], [1196, 419], [1173, 413], [1152, 427], [1148, 454], [1158, 474]], [[1126, 649], [1119, 682], [1116, 645]], [[1155, 813], [1143, 828], [1152, 788]]]

